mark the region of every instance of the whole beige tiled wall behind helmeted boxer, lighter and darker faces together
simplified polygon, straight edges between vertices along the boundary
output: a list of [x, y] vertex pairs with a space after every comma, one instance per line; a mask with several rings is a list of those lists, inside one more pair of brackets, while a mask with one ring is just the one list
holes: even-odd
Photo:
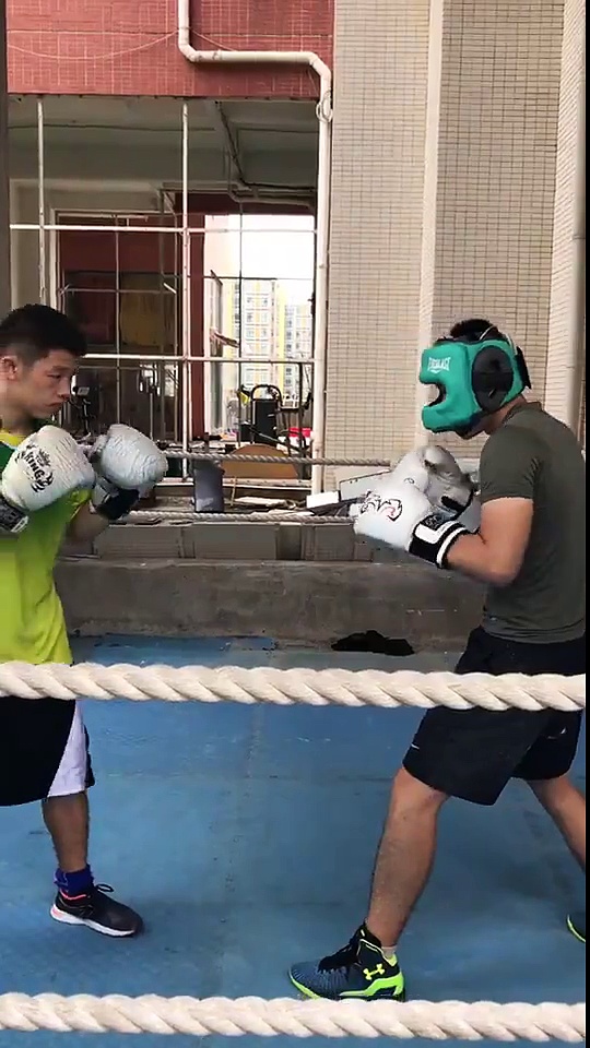
[[460, 317], [514, 333], [544, 395], [564, 5], [337, 0], [329, 454], [418, 439], [420, 349]]

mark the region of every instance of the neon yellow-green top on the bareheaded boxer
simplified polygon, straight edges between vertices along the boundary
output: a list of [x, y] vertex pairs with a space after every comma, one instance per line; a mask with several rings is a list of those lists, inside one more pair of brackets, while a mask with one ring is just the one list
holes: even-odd
[[[0, 429], [0, 476], [23, 437]], [[31, 515], [20, 535], [0, 535], [0, 663], [71, 663], [54, 568], [67, 527], [87, 492]]]

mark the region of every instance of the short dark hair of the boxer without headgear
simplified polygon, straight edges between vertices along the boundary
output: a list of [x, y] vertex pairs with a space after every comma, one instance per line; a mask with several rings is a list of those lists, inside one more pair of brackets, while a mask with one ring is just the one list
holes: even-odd
[[64, 349], [72, 357], [86, 353], [85, 335], [66, 313], [35, 303], [13, 309], [0, 321], [0, 357], [12, 350], [32, 365], [52, 349]]

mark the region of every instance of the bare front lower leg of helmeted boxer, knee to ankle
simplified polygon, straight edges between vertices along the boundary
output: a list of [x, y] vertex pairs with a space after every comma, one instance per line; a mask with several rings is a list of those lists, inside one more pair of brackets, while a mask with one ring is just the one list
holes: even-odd
[[426, 886], [436, 849], [438, 813], [447, 795], [402, 767], [393, 782], [377, 853], [366, 928], [394, 953], [408, 919]]

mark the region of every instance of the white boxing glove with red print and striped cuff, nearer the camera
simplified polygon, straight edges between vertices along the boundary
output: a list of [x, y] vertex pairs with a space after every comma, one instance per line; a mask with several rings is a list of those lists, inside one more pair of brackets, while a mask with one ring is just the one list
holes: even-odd
[[437, 568], [447, 567], [451, 546], [469, 531], [457, 519], [433, 507], [415, 485], [400, 484], [373, 491], [353, 523], [355, 535], [377, 546], [405, 550]]

